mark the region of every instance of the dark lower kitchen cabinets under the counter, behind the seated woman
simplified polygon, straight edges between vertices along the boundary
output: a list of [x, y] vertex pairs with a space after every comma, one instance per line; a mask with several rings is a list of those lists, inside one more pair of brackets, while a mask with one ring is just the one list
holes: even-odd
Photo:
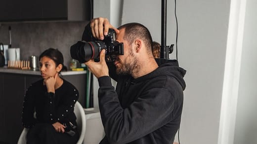
[[[79, 102], [86, 105], [86, 74], [62, 76], [80, 93]], [[26, 89], [42, 79], [41, 75], [0, 72], [0, 144], [17, 144], [22, 132], [21, 116]]]

